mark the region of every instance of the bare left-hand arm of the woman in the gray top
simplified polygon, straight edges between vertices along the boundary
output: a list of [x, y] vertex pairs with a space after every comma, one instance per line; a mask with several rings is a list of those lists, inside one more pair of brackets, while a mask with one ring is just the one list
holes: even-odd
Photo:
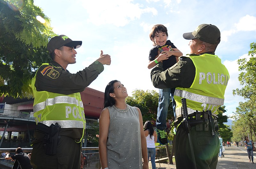
[[102, 168], [108, 167], [108, 158], [107, 158], [107, 139], [108, 139], [108, 128], [109, 128], [110, 118], [108, 108], [104, 108], [100, 114], [99, 120], [99, 153], [100, 153], [100, 162]]

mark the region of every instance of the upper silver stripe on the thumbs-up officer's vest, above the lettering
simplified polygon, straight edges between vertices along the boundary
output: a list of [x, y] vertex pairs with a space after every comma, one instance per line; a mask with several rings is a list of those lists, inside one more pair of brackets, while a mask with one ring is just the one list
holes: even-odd
[[[33, 106], [34, 112], [38, 112], [40, 110], [45, 109], [46, 106], [52, 106], [58, 103], [68, 103], [68, 104], [75, 104], [76, 106], [80, 106], [84, 108], [83, 102], [79, 101], [74, 97], [69, 96], [57, 96], [55, 98], [46, 99], [44, 102], [38, 103]], [[54, 123], [55, 124], [55, 123]]]

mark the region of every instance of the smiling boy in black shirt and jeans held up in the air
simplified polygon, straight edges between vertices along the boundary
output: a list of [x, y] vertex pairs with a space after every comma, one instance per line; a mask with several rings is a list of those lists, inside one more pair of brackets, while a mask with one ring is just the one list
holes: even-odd
[[[163, 62], [163, 69], [167, 70], [179, 61], [179, 56], [182, 55], [179, 49], [174, 44], [167, 40], [168, 32], [164, 25], [158, 24], [152, 27], [149, 38], [153, 42], [154, 48], [149, 52], [148, 69], [156, 66], [158, 62]], [[175, 88], [159, 89], [159, 102], [156, 117], [156, 133], [157, 142], [166, 145], [168, 143], [166, 129], [166, 118], [168, 107], [170, 104], [170, 97], [172, 99], [172, 107], [175, 116], [175, 100], [173, 99]]]

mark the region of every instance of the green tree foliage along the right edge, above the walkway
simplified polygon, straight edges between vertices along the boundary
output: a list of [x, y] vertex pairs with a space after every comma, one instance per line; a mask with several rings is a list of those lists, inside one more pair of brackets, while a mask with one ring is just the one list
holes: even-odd
[[[239, 102], [239, 106], [236, 107], [234, 118], [236, 118], [239, 125], [237, 124], [235, 127], [243, 125], [246, 133], [250, 133], [252, 137], [256, 136], [256, 43], [251, 43], [250, 48], [251, 50], [248, 52], [250, 58], [239, 59], [237, 61], [239, 71], [241, 71], [238, 80], [243, 87], [233, 90], [233, 94], [246, 99], [245, 102]], [[236, 131], [238, 129], [234, 130]], [[235, 136], [238, 134], [239, 132]]]

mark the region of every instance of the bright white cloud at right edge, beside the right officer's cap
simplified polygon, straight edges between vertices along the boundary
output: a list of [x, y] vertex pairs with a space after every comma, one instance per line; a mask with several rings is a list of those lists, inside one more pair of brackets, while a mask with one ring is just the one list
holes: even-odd
[[235, 23], [235, 29], [221, 32], [221, 40], [228, 41], [228, 36], [239, 31], [256, 31], [256, 17], [246, 15], [240, 18], [239, 22]]

